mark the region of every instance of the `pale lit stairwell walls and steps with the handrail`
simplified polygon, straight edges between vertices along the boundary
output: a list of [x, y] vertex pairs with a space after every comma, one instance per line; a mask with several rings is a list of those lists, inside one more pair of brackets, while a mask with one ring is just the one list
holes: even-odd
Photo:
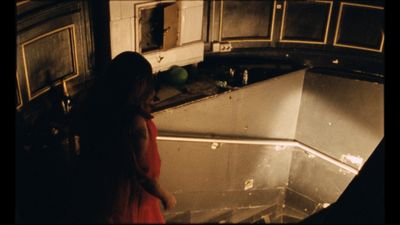
[[373, 82], [298, 70], [155, 113], [162, 158], [174, 162], [161, 179], [183, 202], [167, 221], [292, 223], [335, 203], [381, 141], [379, 119], [372, 138], [360, 112], [382, 94]]

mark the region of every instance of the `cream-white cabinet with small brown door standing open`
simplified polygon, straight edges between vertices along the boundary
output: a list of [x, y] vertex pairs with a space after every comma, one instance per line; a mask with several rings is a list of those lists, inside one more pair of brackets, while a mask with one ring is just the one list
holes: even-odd
[[204, 58], [203, 1], [110, 1], [111, 53], [142, 53], [153, 72]]

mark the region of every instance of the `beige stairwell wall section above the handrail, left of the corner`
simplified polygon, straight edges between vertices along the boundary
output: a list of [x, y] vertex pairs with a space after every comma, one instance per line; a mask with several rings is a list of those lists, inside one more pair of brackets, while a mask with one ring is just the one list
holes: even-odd
[[202, 99], [201, 104], [160, 111], [155, 121], [160, 133], [293, 139], [304, 73], [295, 71]]

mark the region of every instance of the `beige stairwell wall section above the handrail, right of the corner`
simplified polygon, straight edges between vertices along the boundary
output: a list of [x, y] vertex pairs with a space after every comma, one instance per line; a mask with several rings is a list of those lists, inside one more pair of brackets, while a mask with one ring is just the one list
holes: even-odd
[[379, 83], [307, 73], [296, 140], [360, 168], [384, 135]]

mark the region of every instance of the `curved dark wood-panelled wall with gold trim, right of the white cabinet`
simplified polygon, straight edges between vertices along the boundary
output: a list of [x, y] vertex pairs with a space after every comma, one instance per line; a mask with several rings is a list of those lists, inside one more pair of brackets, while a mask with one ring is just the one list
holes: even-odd
[[[258, 54], [383, 76], [383, 1], [214, 1], [204, 7], [208, 55]], [[230, 43], [229, 53], [213, 43]]]

